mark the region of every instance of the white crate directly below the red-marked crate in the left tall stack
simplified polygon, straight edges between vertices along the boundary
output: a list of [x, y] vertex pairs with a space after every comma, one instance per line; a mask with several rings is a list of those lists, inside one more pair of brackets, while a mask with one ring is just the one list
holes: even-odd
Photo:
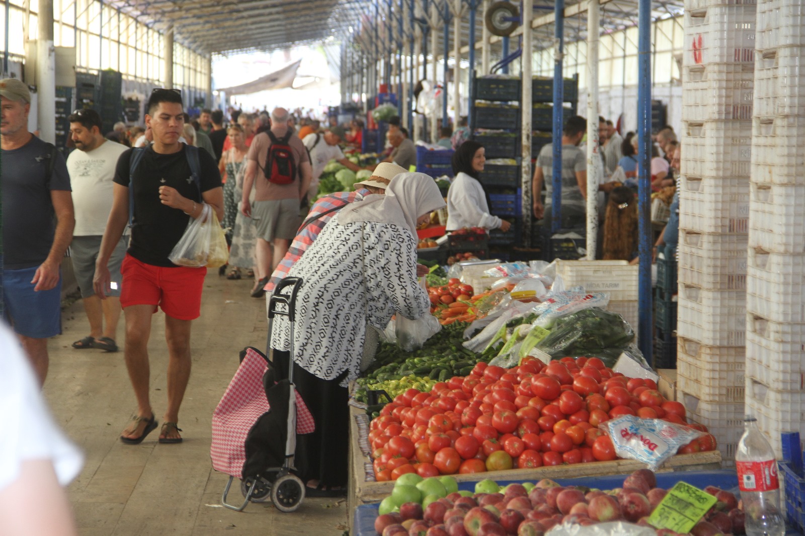
[[682, 92], [683, 120], [751, 120], [753, 67], [753, 64], [686, 66]]

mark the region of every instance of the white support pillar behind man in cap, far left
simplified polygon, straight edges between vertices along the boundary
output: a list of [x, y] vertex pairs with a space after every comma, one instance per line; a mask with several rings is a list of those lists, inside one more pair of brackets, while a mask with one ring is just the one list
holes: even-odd
[[53, 0], [39, 0], [36, 39], [36, 92], [39, 138], [56, 142], [56, 48], [53, 47]]

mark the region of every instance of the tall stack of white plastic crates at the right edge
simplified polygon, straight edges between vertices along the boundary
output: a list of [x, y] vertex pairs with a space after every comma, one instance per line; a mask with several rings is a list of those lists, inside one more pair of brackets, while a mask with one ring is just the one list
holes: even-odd
[[805, 433], [805, 6], [758, 2], [749, 257], [746, 412], [778, 456]]

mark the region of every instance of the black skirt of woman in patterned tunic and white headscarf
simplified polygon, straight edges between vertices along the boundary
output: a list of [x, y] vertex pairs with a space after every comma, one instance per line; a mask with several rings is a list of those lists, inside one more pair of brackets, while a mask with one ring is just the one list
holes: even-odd
[[[287, 377], [290, 353], [273, 350], [275, 367]], [[349, 390], [322, 380], [294, 363], [293, 381], [316, 423], [312, 434], [296, 436], [295, 466], [303, 481], [319, 480], [328, 487], [346, 486], [349, 465]]]

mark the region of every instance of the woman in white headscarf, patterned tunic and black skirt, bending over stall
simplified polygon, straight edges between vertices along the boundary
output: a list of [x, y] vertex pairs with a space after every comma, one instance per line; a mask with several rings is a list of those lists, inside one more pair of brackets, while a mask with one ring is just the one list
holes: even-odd
[[[346, 485], [346, 386], [360, 372], [367, 326], [382, 330], [394, 314], [411, 320], [429, 314], [430, 300], [416, 276], [416, 226], [443, 207], [431, 177], [401, 173], [385, 196], [342, 209], [289, 272], [303, 279], [296, 299], [294, 382], [316, 431], [299, 436], [295, 461], [311, 496]], [[287, 318], [275, 316], [270, 342], [280, 370], [287, 369], [289, 339]]]

